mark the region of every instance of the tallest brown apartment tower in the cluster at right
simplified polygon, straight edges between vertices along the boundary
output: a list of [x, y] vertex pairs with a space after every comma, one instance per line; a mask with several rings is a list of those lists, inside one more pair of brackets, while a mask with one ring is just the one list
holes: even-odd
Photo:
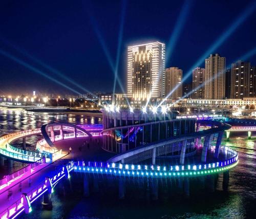
[[226, 58], [219, 54], [205, 59], [204, 99], [225, 99]]

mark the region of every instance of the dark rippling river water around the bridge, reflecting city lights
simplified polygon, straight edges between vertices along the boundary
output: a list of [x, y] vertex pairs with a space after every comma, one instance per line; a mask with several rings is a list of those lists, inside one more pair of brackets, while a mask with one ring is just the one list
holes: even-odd
[[[33, 113], [1, 109], [0, 134], [40, 127], [50, 121], [100, 124], [101, 118], [72, 113]], [[222, 142], [239, 152], [239, 164], [229, 172], [227, 192], [223, 191], [219, 178], [214, 193], [200, 192], [198, 189], [193, 191], [191, 188], [188, 199], [172, 195], [165, 187], [160, 189], [158, 201], [148, 200], [136, 183], [133, 189], [127, 189], [129, 196], [122, 201], [118, 200], [116, 186], [111, 185], [108, 189], [92, 193], [90, 198], [84, 198], [82, 177], [73, 173], [70, 181], [63, 180], [56, 186], [56, 192], [52, 196], [53, 210], [42, 210], [42, 200], [38, 199], [32, 204], [33, 211], [20, 215], [20, 218], [255, 218], [256, 138], [247, 140], [246, 137], [246, 133], [231, 133], [230, 140], [224, 139]], [[30, 138], [28, 142], [33, 145], [36, 140]], [[19, 166], [22, 165], [14, 162], [14, 168]], [[194, 183], [194, 188], [196, 186]]]

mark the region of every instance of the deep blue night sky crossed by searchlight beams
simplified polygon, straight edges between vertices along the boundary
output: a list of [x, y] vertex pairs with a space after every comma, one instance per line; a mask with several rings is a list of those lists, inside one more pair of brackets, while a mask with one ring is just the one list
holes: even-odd
[[[0, 95], [33, 90], [54, 94], [112, 92], [119, 39], [118, 76], [125, 90], [126, 47], [138, 42], [166, 43], [166, 51], [172, 48], [166, 67], [177, 66], [183, 75], [189, 72], [191, 81], [191, 67], [198, 60], [204, 67], [210, 53], [226, 57], [228, 65], [256, 48], [256, 2], [1, 1]], [[204, 57], [207, 51], [210, 53]], [[246, 60], [256, 65], [256, 51]], [[118, 85], [116, 91], [122, 92]]]

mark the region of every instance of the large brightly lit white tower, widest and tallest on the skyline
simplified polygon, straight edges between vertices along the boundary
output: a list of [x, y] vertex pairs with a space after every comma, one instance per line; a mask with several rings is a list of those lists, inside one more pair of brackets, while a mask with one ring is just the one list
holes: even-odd
[[136, 101], [164, 96], [165, 44], [128, 47], [127, 97]]

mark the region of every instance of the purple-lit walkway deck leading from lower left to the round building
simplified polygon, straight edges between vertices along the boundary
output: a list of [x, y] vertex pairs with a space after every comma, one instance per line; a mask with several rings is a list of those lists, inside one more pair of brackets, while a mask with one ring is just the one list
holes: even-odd
[[[89, 142], [84, 145], [84, 142]], [[88, 137], [66, 139], [55, 142], [56, 148], [62, 149], [63, 152], [69, 152], [69, 148], [72, 148], [72, 153], [68, 155], [63, 155], [62, 159], [59, 159], [51, 164], [43, 163], [35, 167], [35, 171], [30, 175], [24, 175], [22, 178], [16, 180], [10, 186], [7, 186], [2, 191], [0, 190], [0, 213], [6, 208], [11, 206], [17, 200], [20, 199], [22, 193], [28, 193], [46, 177], [51, 177], [51, 173], [54, 173], [56, 168], [68, 163], [70, 159], [75, 160], [102, 160], [106, 161], [108, 158], [113, 156], [113, 154], [105, 152], [101, 149], [102, 137], [93, 137], [90, 141]], [[31, 178], [31, 186], [29, 187], [29, 178]], [[20, 182], [22, 181], [22, 191], [19, 191]], [[12, 191], [12, 197], [8, 199], [8, 190]]]

